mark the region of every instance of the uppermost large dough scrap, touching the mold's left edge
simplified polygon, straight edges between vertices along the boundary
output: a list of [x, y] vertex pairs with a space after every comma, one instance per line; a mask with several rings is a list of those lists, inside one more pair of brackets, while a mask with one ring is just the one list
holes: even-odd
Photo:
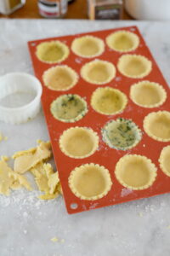
[[51, 156], [51, 144], [39, 142], [37, 148], [17, 152], [13, 155], [14, 171], [24, 173], [42, 160], [47, 160]]

